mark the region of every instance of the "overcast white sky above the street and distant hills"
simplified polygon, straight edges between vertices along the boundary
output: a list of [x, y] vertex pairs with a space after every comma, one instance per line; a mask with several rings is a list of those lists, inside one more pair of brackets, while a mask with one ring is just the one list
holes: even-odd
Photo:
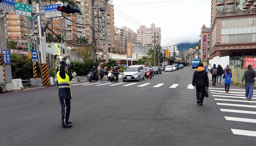
[[211, 0], [113, 0], [115, 26], [137, 32], [161, 28], [162, 45], [197, 43], [202, 26], [210, 27]]

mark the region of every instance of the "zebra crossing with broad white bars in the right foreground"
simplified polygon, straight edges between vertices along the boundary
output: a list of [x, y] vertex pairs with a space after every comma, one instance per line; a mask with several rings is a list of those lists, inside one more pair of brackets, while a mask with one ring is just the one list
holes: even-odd
[[[232, 115], [235, 113], [245, 114], [245, 116], [249, 116], [249, 118], [241, 118], [236, 116], [224, 116], [224, 118], [228, 121], [236, 121], [236, 122], [245, 122], [250, 123], [251, 127], [255, 127], [252, 125], [256, 123], [256, 100], [247, 101], [245, 97], [244, 89], [230, 89], [229, 94], [226, 94], [223, 88], [209, 88], [210, 94], [214, 97], [214, 100], [217, 101], [217, 105], [221, 108], [221, 112], [228, 113]], [[255, 91], [254, 91], [255, 92]], [[256, 95], [253, 95], [253, 98]], [[225, 107], [225, 108], [223, 108]], [[234, 108], [239, 108], [236, 110]], [[243, 108], [243, 110], [241, 110]], [[247, 110], [249, 108], [249, 110]], [[231, 129], [233, 134], [236, 135], [245, 135], [245, 136], [254, 136], [256, 137], [256, 131], [249, 131], [244, 129]]]

